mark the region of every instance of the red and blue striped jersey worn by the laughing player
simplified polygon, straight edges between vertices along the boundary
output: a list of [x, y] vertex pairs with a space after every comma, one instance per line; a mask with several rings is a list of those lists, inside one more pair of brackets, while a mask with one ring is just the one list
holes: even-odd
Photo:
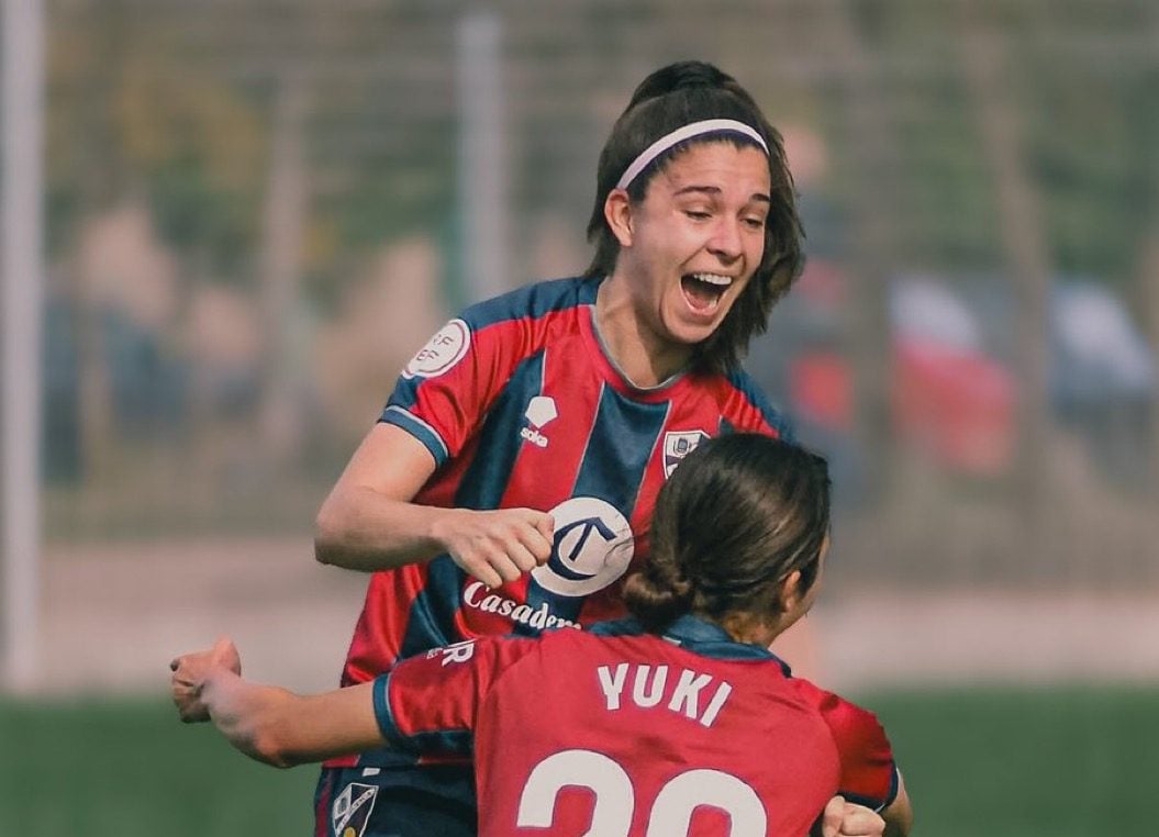
[[475, 305], [403, 370], [381, 421], [435, 458], [415, 502], [549, 511], [554, 549], [495, 590], [446, 555], [373, 573], [343, 685], [465, 639], [621, 616], [619, 581], [641, 560], [656, 493], [679, 460], [734, 429], [785, 435], [743, 371], [633, 386], [593, 327], [598, 284], [542, 282]]

